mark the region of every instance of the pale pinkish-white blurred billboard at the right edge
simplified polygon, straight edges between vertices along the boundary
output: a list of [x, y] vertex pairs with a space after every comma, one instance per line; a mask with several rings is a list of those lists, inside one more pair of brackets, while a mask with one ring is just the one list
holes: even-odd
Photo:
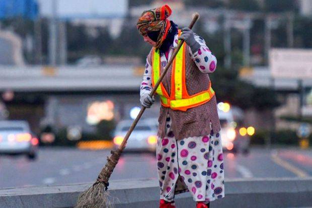
[[312, 79], [312, 49], [277, 49], [269, 53], [274, 78]]

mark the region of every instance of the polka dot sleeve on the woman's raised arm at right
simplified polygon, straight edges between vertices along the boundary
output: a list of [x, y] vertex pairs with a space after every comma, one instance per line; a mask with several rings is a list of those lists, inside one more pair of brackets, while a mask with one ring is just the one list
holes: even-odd
[[195, 40], [200, 44], [200, 48], [195, 53], [192, 53], [191, 48], [189, 48], [189, 53], [192, 54], [193, 61], [196, 63], [200, 72], [214, 72], [217, 66], [216, 57], [211, 53], [204, 39], [195, 34]]

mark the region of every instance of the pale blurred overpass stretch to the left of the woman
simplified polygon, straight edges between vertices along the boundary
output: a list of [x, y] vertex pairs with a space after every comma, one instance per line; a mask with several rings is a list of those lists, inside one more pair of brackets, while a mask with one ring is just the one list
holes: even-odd
[[144, 67], [0, 66], [0, 91], [138, 91]]

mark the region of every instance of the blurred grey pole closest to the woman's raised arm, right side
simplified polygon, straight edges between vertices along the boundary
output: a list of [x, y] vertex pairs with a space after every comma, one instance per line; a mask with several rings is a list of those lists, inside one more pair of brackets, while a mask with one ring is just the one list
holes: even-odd
[[227, 15], [224, 15], [224, 36], [223, 36], [223, 45], [224, 45], [224, 51], [225, 51], [225, 57], [224, 57], [224, 65], [226, 68], [231, 67], [231, 31], [229, 26], [229, 18]]

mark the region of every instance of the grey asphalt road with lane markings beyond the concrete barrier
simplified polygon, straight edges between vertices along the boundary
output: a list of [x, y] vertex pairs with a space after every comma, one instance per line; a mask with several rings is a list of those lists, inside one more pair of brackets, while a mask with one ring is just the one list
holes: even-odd
[[[42, 148], [38, 159], [0, 156], [0, 188], [94, 182], [108, 150]], [[312, 150], [252, 148], [249, 155], [224, 153], [225, 178], [312, 176]], [[154, 154], [126, 153], [111, 180], [157, 178]]]

